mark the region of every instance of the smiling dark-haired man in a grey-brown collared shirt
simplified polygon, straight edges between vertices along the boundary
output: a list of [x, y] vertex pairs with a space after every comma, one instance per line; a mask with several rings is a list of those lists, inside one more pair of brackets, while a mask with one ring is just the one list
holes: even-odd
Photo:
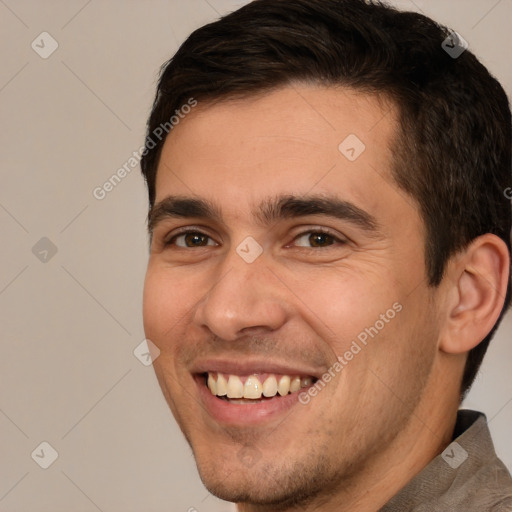
[[512, 510], [457, 412], [510, 296], [510, 110], [465, 50], [377, 2], [257, 0], [163, 68], [145, 331], [240, 511]]

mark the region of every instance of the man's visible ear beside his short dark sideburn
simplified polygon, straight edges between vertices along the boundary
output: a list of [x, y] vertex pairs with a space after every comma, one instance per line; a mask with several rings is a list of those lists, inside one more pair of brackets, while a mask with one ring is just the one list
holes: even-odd
[[489, 334], [505, 302], [509, 271], [507, 245], [491, 233], [476, 238], [450, 260], [440, 350], [462, 354]]

